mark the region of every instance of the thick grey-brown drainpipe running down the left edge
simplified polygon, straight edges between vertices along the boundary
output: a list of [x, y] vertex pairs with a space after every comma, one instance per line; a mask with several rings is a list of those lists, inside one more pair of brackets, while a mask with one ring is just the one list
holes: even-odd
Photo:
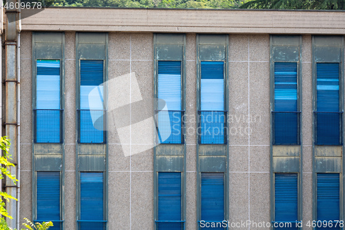
[[[15, 6], [17, 0], [6, 0], [8, 6]], [[20, 0], [18, 0], [20, 1]], [[7, 8], [6, 9], [6, 31], [5, 31], [5, 133], [8, 139], [10, 139], [10, 151], [9, 155], [12, 156], [12, 162], [14, 166], [17, 166], [17, 10]], [[11, 175], [16, 175], [16, 168], [11, 166]], [[17, 198], [17, 185], [9, 178], [6, 178], [6, 193]], [[8, 213], [12, 215], [13, 219], [7, 218], [8, 226], [12, 229], [17, 227], [17, 202], [10, 200], [6, 202], [6, 209]]]

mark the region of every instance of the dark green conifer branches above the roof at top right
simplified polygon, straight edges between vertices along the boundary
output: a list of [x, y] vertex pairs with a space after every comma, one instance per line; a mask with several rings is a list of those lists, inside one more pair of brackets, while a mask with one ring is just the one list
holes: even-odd
[[253, 0], [240, 8], [252, 9], [304, 9], [304, 10], [344, 10], [344, 0]]

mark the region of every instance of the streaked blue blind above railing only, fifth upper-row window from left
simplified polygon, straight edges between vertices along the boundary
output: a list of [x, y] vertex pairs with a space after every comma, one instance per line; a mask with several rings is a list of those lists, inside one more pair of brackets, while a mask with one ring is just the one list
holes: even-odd
[[275, 111], [297, 111], [296, 62], [275, 62]]

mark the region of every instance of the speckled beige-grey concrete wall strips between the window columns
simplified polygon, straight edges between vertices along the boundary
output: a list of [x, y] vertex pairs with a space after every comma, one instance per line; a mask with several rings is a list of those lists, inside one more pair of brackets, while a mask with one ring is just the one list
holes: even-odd
[[[50, 12], [44, 10], [41, 14]], [[170, 11], [169, 11], [170, 12]], [[179, 12], [179, 11], [174, 11]], [[221, 12], [223, 13], [223, 12]], [[270, 12], [265, 12], [268, 14]], [[34, 16], [33, 18], [38, 17]], [[25, 19], [26, 20], [26, 19]], [[25, 22], [25, 20], [23, 22]], [[29, 20], [29, 18], [28, 18]], [[33, 19], [30, 19], [33, 20]], [[339, 25], [339, 23], [338, 23]], [[23, 28], [32, 28], [23, 23]], [[32, 217], [31, 32], [21, 35], [21, 220]], [[196, 114], [194, 33], [186, 35], [186, 114]], [[269, 35], [229, 35], [230, 222], [270, 222]], [[153, 34], [109, 33], [108, 78], [135, 72], [144, 100], [153, 95]], [[75, 229], [75, 32], [66, 32], [65, 226]], [[303, 36], [304, 220], [312, 213], [311, 36]], [[129, 81], [130, 79], [128, 79]], [[111, 92], [110, 92], [111, 93]], [[152, 101], [151, 101], [152, 102]], [[151, 108], [153, 108], [151, 104]], [[189, 117], [189, 116], [188, 116]], [[195, 128], [188, 122], [186, 128]], [[186, 137], [186, 229], [197, 228], [196, 135]], [[109, 135], [108, 229], [152, 229], [153, 151], [125, 157]], [[241, 228], [240, 228], [241, 229]], [[256, 228], [251, 228], [256, 229]], [[268, 228], [266, 228], [268, 229]]]

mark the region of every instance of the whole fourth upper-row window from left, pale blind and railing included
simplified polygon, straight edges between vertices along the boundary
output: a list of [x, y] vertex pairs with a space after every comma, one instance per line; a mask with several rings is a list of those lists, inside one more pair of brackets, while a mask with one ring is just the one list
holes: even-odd
[[224, 61], [201, 61], [200, 144], [226, 144]]

